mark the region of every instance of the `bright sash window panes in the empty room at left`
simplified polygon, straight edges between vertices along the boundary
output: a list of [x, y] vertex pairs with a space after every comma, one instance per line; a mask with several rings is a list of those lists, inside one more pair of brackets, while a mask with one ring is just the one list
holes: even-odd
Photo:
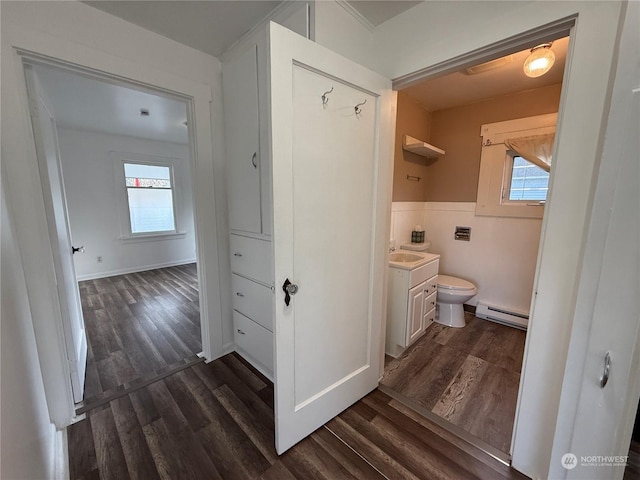
[[131, 234], [175, 232], [171, 167], [124, 163]]

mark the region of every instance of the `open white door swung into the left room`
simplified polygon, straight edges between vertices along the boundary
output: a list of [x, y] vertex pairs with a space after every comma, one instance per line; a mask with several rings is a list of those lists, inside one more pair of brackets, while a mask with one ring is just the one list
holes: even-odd
[[39, 85], [37, 75], [31, 66], [25, 68], [31, 122], [36, 139], [36, 150], [42, 180], [51, 249], [53, 251], [62, 326], [67, 349], [67, 359], [73, 388], [73, 399], [82, 401], [84, 395], [84, 374], [87, 366], [87, 338], [82, 318], [80, 292], [76, 279], [71, 233], [67, 215], [58, 134], [51, 107], [45, 92]]

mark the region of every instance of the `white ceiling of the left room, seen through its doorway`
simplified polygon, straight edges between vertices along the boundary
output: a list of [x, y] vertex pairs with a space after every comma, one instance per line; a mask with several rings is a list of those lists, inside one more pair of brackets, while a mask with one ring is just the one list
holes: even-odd
[[185, 102], [54, 67], [34, 68], [60, 127], [187, 143]]

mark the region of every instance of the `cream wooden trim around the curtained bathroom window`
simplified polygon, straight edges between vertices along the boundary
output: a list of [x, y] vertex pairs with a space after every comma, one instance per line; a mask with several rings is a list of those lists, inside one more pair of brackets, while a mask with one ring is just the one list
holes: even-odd
[[542, 218], [545, 203], [508, 199], [511, 184], [510, 167], [513, 165], [515, 152], [508, 149], [504, 141], [513, 137], [555, 132], [557, 117], [557, 113], [551, 113], [481, 126], [482, 153], [476, 215]]

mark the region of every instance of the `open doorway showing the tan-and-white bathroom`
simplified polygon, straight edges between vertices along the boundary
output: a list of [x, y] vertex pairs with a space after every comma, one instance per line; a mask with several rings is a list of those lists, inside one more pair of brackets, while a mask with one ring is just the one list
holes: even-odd
[[[398, 92], [390, 251], [436, 254], [438, 268], [430, 275], [462, 279], [476, 291], [464, 304], [466, 326], [455, 328], [437, 323], [441, 305], [428, 289], [442, 282], [426, 279], [422, 295], [416, 295], [418, 284], [409, 283], [398, 299], [390, 288], [381, 389], [505, 462], [550, 168], [545, 172], [511, 147], [497, 147], [503, 141], [486, 132], [512, 128], [505, 125], [514, 120], [536, 124], [542, 117], [555, 129], [555, 117], [546, 117], [559, 109], [569, 37], [548, 40], [540, 48], [554, 52], [555, 63], [543, 76], [523, 73], [525, 59], [540, 43], [534, 42]], [[518, 130], [524, 131], [513, 128]], [[410, 142], [422, 144], [421, 151]], [[552, 145], [551, 139], [549, 150]], [[502, 163], [491, 170], [497, 177], [488, 183], [497, 185], [498, 207], [510, 211], [488, 214], [480, 205], [487, 148], [502, 149]], [[402, 273], [393, 272], [403, 268], [391, 264], [390, 283], [397, 286]]]

